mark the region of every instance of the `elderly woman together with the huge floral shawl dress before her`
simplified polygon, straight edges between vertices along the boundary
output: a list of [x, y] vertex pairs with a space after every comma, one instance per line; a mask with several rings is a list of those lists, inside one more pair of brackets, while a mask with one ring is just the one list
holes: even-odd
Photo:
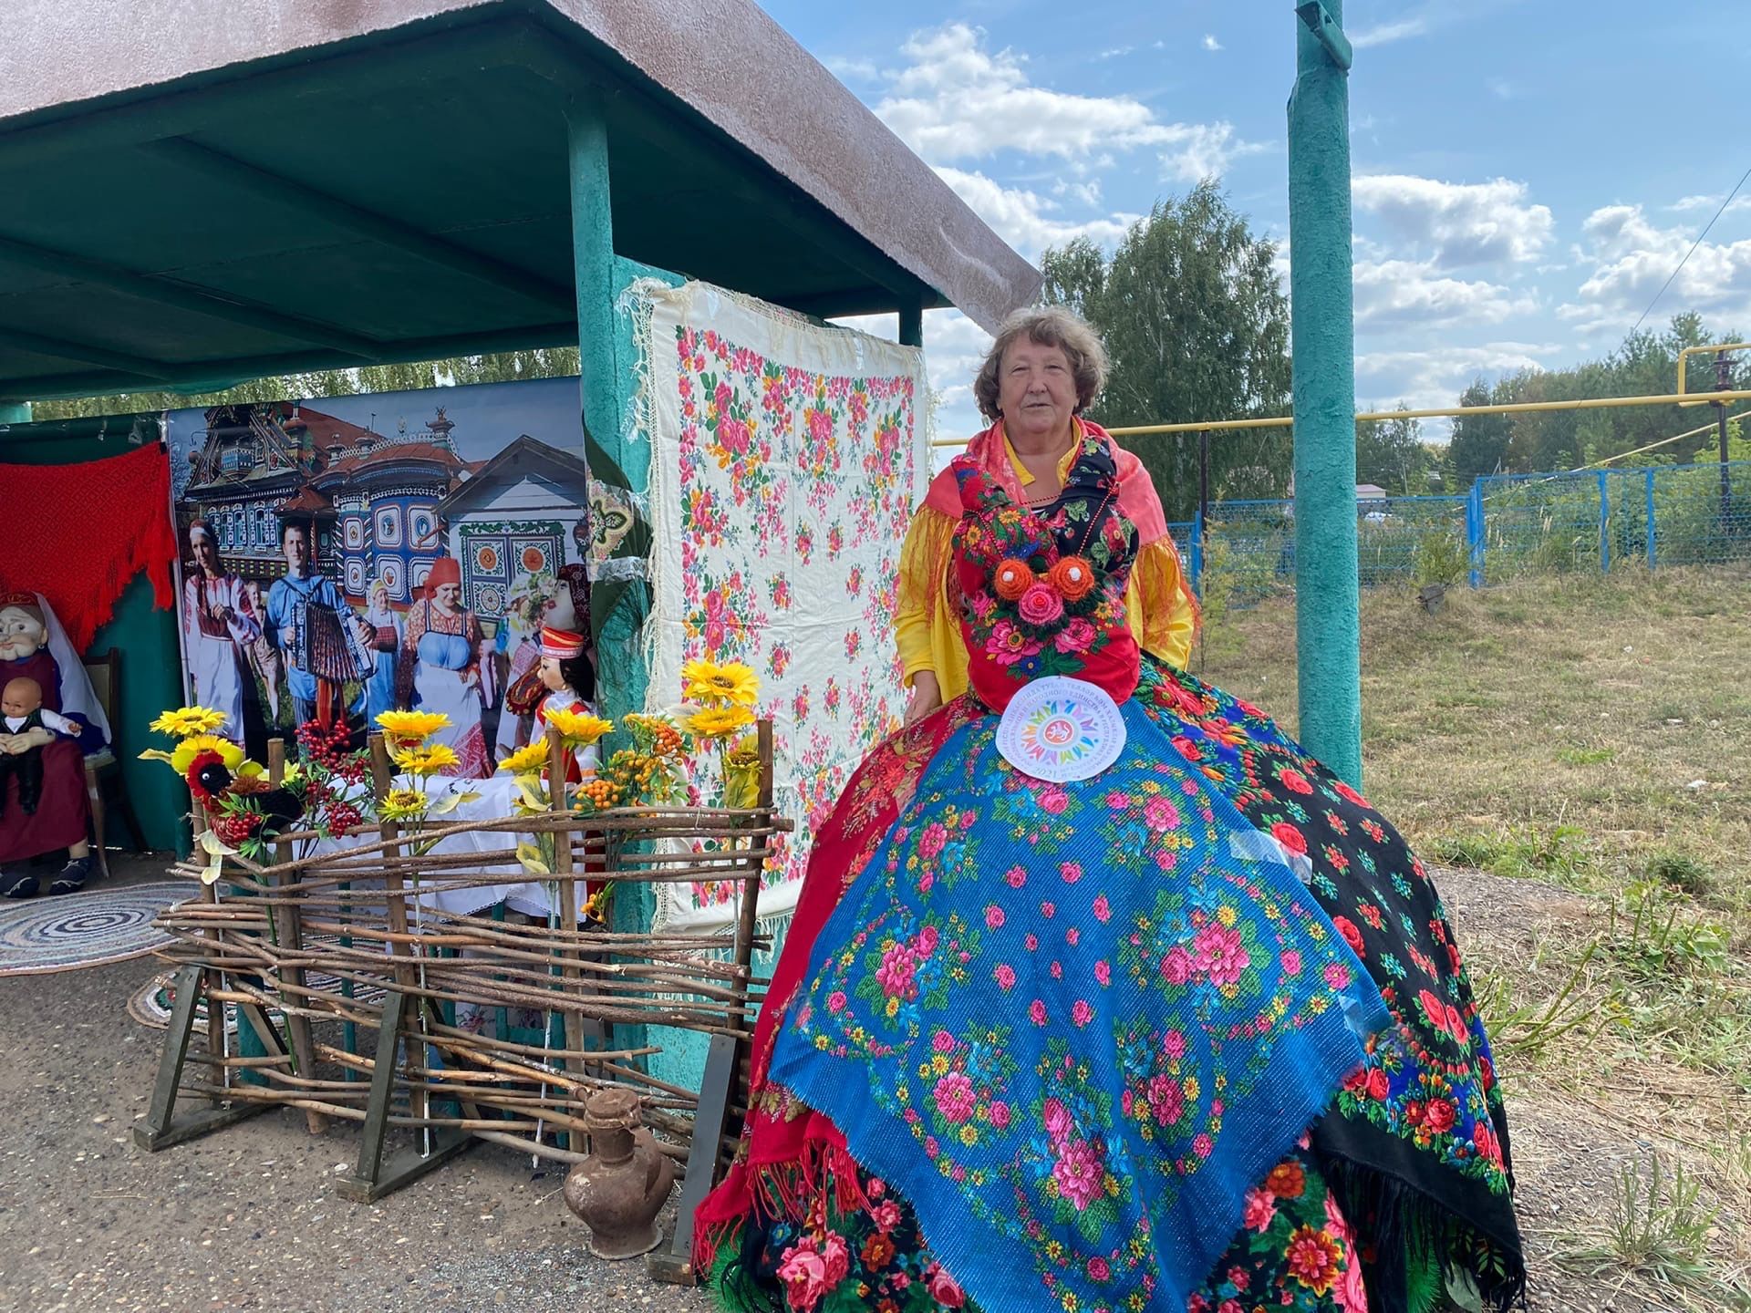
[[1508, 1122], [1439, 896], [1178, 669], [1196, 609], [1080, 415], [1103, 376], [1065, 310], [979, 373], [993, 424], [902, 558], [911, 723], [816, 833], [695, 1266], [735, 1309], [1508, 1308]]

